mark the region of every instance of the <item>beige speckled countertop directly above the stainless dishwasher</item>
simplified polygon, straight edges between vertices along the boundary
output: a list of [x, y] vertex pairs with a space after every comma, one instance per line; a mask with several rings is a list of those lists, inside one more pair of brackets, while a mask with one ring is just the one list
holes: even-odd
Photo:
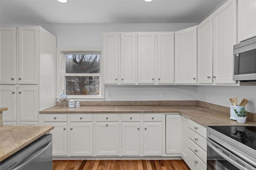
[[54, 129], [53, 126], [0, 127], [0, 161]]

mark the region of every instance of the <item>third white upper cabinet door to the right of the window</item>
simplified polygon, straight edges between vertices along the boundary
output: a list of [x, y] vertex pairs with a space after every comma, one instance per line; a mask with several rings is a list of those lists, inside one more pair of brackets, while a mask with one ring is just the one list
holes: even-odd
[[138, 84], [154, 84], [155, 34], [138, 33]]

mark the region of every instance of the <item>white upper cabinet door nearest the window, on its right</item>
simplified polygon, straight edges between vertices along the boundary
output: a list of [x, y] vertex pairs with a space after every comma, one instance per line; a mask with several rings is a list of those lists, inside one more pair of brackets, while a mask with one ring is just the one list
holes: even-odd
[[118, 33], [103, 34], [104, 84], [118, 84], [119, 47]]

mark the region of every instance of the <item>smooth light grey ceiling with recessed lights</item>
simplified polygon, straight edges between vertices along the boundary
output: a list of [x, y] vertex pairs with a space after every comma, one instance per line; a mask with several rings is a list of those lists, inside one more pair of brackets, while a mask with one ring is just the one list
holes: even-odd
[[0, 24], [197, 23], [224, 0], [0, 0]]

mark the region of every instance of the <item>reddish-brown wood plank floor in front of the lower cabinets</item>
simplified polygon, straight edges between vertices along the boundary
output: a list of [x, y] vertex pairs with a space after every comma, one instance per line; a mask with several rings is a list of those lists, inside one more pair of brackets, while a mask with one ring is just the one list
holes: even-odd
[[190, 170], [184, 160], [53, 160], [53, 170]]

